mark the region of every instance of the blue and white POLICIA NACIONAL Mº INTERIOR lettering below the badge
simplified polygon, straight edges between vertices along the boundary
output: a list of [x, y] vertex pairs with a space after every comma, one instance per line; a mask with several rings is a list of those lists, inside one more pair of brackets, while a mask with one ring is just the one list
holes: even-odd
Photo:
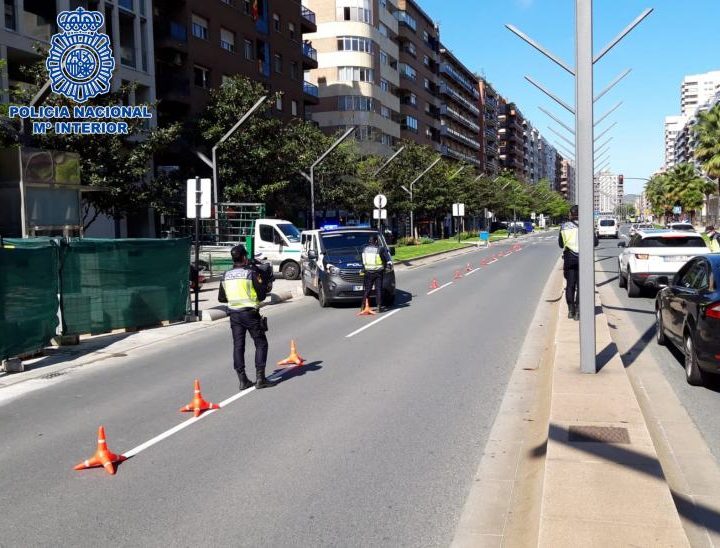
[[[128, 123], [124, 120], [152, 118], [147, 105], [74, 106], [72, 109], [67, 106], [10, 105], [8, 115], [32, 120], [33, 134], [54, 130], [58, 135], [127, 135]], [[101, 121], [103, 119], [108, 121]]]

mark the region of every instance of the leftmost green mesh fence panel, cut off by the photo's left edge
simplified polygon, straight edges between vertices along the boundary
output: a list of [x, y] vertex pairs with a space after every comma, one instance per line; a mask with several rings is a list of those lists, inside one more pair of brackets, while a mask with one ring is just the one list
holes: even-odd
[[47, 346], [58, 326], [58, 247], [0, 244], [0, 359]]

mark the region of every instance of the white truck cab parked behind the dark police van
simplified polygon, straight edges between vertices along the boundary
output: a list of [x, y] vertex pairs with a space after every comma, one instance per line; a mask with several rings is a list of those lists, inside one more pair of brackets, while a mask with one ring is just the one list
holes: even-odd
[[255, 253], [272, 263], [286, 280], [300, 277], [300, 231], [282, 219], [255, 220]]

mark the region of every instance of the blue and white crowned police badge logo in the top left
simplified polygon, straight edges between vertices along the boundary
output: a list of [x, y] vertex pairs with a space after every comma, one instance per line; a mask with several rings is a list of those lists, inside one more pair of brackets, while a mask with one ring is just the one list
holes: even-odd
[[61, 32], [53, 35], [45, 61], [53, 92], [84, 103], [110, 91], [115, 59], [110, 38], [98, 32], [104, 20], [102, 13], [82, 8], [58, 14]]

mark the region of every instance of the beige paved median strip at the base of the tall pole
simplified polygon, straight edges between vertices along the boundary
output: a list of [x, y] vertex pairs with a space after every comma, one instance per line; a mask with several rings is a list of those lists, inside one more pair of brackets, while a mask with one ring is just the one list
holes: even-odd
[[582, 374], [561, 304], [538, 545], [689, 546], [602, 313], [596, 332], [601, 369]]

